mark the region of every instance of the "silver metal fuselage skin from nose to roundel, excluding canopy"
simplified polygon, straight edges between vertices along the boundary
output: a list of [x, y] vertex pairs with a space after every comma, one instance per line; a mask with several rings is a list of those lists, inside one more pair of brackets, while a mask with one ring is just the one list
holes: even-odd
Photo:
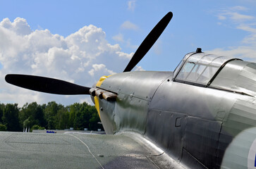
[[248, 168], [256, 139], [255, 63], [230, 61], [209, 86], [173, 82], [172, 72], [130, 72], [100, 88], [117, 94], [116, 101], [99, 100], [107, 134], [143, 134], [189, 168]]

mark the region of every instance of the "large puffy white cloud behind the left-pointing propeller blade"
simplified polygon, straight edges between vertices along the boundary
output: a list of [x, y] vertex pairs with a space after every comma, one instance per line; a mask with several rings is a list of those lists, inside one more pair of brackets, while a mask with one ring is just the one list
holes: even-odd
[[[88, 25], [63, 37], [49, 30], [31, 30], [24, 18], [0, 23], [1, 102], [57, 101], [61, 104], [89, 100], [86, 96], [58, 96], [32, 92], [7, 84], [8, 73], [40, 75], [75, 82], [90, 87], [102, 75], [123, 71], [132, 54], [121, 51], [118, 44], [109, 44], [106, 33]], [[116, 64], [118, 63], [118, 64]]]

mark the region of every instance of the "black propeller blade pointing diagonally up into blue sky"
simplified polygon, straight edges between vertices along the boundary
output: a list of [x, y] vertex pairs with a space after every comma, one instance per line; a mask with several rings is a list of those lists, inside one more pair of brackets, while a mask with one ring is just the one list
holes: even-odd
[[145, 54], [147, 54], [147, 51], [149, 51], [153, 46], [154, 42], [157, 41], [161, 33], [164, 32], [165, 27], [168, 25], [172, 17], [173, 13], [169, 12], [159, 21], [159, 23], [157, 23], [157, 25], [151, 30], [150, 34], [144, 39], [142, 44], [140, 44], [137, 51], [135, 51], [133, 58], [130, 59], [130, 62], [123, 72], [129, 72], [140, 62]]

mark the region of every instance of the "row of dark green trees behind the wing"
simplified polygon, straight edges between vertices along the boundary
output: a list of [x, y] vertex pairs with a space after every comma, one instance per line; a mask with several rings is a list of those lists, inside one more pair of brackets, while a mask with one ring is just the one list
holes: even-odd
[[73, 127], [74, 130], [102, 129], [95, 106], [87, 103], [63, 106], [51, 101], [39, 105], [37, 102], [25, 104], [0, 104], [0, 130], [20, 132], [23, 128], [64, 130]]

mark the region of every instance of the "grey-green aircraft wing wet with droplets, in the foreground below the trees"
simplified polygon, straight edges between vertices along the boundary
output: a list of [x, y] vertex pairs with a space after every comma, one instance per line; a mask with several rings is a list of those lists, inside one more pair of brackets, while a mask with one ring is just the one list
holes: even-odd
[[1, 168], [182, 168], [139, 134], [0, 132]]

